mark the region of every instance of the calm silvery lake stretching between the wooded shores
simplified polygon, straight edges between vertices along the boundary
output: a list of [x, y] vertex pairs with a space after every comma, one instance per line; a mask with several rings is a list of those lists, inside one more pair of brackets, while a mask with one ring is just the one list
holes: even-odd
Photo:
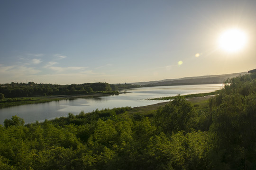
[[123, 90], [129, 93], [119, 95], [13, 106], [0, 109], [0, 124], [3, 125], [3, 121], [11, 119], [13, 115], [23, 118], [25, 123], [30, 123], [36, 120], [44, 121], [45, 119], [67, 116], [68, 113], [79, 114], [81, 111], [87, 113], [96, 109], [146, 106], [158, 102], [166, 102], [148, 101], [146, 99], [175, 96], [177, 94], [207, 93], [219, 90], [222, 87], [222, 84], [143, 87]]

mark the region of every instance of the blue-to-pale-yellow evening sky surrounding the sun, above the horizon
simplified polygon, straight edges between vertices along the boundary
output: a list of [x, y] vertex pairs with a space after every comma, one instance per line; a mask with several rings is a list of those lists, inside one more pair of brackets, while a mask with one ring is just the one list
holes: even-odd
[[[256, 68], [256, 0], [1, 0], [0, 84], [131, 83]], [[219, 36], [247, 35], [227, 52]]]

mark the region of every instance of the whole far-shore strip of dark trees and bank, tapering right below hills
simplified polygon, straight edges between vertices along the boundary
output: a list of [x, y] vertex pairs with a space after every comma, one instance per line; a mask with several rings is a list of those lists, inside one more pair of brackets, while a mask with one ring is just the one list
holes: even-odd
[[[210, 83], [173, 83], [170, 85], [201, 85], [201, 84], [216, 84], [216, 82]], [[132, 84], [109, 84], [109, 83], [84, 83], [84, 84], [72, 84], [72, 85], [53, 85], [53, 84], [37, 84], [34, 82], [28, 83], [10, 83], [0, 85], [0, 100], [4, 98], [14, 97], [37, 97], [37, 96], [51, 96], [51, 95], [72, 95], [72, 94], [113, 94], [119, 93], [118, 91], [130, 88], [139, 87], [154, 87], [154, 86], [169, 86], [148, 84], [148, 85], [132, 85]]]

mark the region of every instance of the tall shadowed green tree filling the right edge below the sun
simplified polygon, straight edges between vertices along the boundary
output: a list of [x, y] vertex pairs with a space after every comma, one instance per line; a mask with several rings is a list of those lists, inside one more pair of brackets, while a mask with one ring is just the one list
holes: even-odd
[[254, 169], [256, 167], [256, 81], [253, 75], [228, 80], [211, 100], [213, 123], [213, 169]]

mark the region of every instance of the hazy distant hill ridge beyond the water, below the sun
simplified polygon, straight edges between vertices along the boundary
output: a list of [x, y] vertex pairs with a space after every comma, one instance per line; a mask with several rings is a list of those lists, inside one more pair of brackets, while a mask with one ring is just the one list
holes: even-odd
[[160, 81], [149, 82], [136, 82], [129, 83], [132, 85], [149, 85], [149, 86], [161, 86], [161, 85], [201, 85], [201, 84], [219, 84], [223, 83], [228, 78], [233, 78], [239, 75], [245, 75], [247, 72], [233, 73], [225, 75], [209, 75], [209, 76], [193, 76], [176, 79], [165, 79]]

